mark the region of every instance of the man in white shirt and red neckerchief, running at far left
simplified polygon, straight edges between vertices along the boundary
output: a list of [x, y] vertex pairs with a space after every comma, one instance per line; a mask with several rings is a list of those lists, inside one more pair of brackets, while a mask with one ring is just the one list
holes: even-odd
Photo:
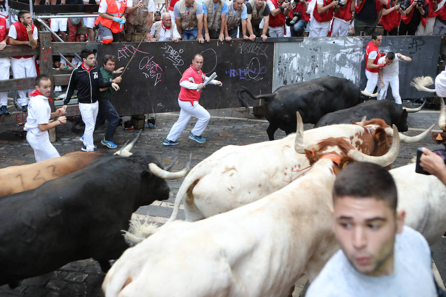
[[[51, 94], [51, 80], [45, 74], [36, 77], [36, 90], [29, 94], [28, 117], [25, 127], [27, 131], [26, 141], [34, 149], [36, 162], [59, 157], [56, 148], [51, 144], [48, 130], [66, 123], [66, 117], [60, 116], [65, 113], [63, 108], [51, 112], [48, 98]], [[50, 123], [50, 118], [58, 118]]]

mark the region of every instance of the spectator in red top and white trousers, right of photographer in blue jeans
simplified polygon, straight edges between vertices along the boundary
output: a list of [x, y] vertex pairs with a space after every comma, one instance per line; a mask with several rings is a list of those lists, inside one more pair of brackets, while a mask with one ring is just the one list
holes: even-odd
[[309, 37], [325, 37], [330, 31], [330, 23], [335, 15], [338, 0], [316, 0], [313, 19], [310, 22]]

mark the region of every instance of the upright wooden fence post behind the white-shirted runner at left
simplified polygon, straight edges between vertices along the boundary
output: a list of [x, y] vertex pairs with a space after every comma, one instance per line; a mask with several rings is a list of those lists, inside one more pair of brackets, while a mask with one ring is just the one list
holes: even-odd
[[[51, 47], [51, 32], [41, 31], [39, 32], [39, 44], [40, 44], [40, 57], [39, 57], [39, 69], [40, 74], [46, 74], [51, 80], [51, 95], [50, 98], [54, 99], [54, 77], [53, 77], [53, 49]], [[51, 112], [54, 112], [56, 108], [53, 102], [50, 101]], [[49, 131], [50, 141], [57, 141], [56, 128]]]

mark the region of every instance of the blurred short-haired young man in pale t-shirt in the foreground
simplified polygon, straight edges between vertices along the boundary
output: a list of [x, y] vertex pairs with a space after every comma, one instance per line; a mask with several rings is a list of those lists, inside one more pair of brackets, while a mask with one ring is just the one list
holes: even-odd
[[311, 283], [306, 297], [437, 296], [424, 237], [404, 226], [397, 193], [381, 166], [354, 162], [338, 174], [333, 218], [341, 248]]

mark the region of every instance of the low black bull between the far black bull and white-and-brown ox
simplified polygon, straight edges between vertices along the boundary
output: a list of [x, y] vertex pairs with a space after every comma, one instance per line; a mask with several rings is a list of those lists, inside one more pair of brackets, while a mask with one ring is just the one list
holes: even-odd
[[389, 126], [395, 125], [399, 132], [408, 130], [407, 111], [390, 100], [369, 100], [350, 108], [330, 112], [319, 120], [315, 128], [333, 124], [349, 124], [350, 120], [359, 122], [363, 116], [366, 116], [368, 120], [383, 119]]

